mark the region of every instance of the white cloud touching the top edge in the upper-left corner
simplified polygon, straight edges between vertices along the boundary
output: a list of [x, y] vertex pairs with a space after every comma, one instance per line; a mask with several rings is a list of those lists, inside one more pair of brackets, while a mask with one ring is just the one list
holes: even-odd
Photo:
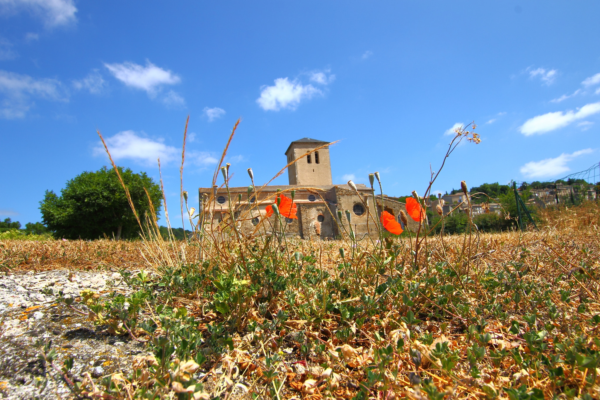
[[26, 10], [40, 17], [47, 28], [75, 22], [77, 7], [73, 0], [0, 0], [0, 12], [15, 14]]

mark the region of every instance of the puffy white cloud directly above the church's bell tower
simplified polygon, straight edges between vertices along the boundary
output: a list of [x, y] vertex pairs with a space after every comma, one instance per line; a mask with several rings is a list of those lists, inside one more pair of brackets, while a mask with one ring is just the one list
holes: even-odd
[[322, 95], [323, 92], [313, 85], [302, 85], [298, 80], [290, 82], [286, 78], [275, 79], [274, 86], [263, 86], [260, 97], [256, 103], [263, 110], [279, 111], [280, 109], [295, 110], [304, 99], [310, 99], [314, 95]]

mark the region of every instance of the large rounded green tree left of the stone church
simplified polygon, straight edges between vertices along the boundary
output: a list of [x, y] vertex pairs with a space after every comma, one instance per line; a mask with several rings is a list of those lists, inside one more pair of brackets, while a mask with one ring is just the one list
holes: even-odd
[[[148, 196], [158, 216], [160, 187], [145, 172], [133, 173], [118, 167], [136, 211], [144, 222], [150, 213]], [[113, 169], [102, 167], [96, 172], [83, 172], [67, 182], [61, 196], [46, 191], [40, 210], [44, 224], [55, 237], [66, 239], [98, 239], [100, 237], [134, 238], [139, 225], [131, 211], [125, 191]]]

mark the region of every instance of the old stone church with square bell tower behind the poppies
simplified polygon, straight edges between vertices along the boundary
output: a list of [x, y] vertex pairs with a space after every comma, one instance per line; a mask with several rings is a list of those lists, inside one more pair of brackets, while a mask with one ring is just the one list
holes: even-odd
[[[356, 184], [356, 191], [347, 184], [333, 184], [328, 143], [308, 137], [290, 143], [285, 152], [287, 164], [291, 163], [287, 168], [289, 185], [257, 186], [250, 194], [248, 187], [230, 187], [229, 194], [224, 186], [199, 188], [205, 229], [220, 230], [223, 224], [231, 224], [233, 213], [233, 220], [243, 234], [268, 234], [274, 227], [275, 215], [267, 216], [266, 207], [275, 203], [278, 191], [291, 197], [292, 190], [295, 190], [293, 203], [298, 218], [284, 218], [289, 237], [324, 240], [341, 237], [344, 227], [348, 228], [346, 210], [352, 215], [352, 228], [358, 239], [367, 234], [377, 237], [375, 221], [382, 206], [401, 222], [400, 210], [406, 212], [404, 203], [383, 195], [382, 204], [382, 197], [377, 194], [373, 201], [371, 188], [363, 184]], [[338, 210], [342, 213], [341, 221]], [[409, 218], [411, 230], [415, 229], [413, 224], [416, 225]]]

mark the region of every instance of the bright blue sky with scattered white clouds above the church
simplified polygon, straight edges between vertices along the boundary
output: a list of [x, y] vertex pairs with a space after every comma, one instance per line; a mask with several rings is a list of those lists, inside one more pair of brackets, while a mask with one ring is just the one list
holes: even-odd
[[[235, 120], [232, 185], [268, 181], [301, 137], [332, 146], [334, 184], [379, 171], [424, 192], [455, 124], [482, 142], [434, 185], [560, 178], [599, 160], [593, 1], [0, 0], [0, 218], [40, 221], [44, 191], [116, 161], [179, 206], [210, 185]], [[287, 184], [287, 174], [275, 181]], [[195, 199], [195, 196], [192, 196]], [[181, 226], [173, 218], [174, 226]]]

